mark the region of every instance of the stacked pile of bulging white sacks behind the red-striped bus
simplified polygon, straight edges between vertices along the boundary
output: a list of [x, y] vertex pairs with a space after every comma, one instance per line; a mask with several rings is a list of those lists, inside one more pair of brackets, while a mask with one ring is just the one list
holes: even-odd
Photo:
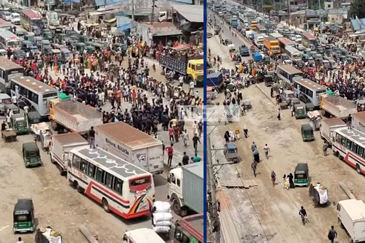
[[171, 205], [164, 201], [155, 201], [152, 205], [152, 229], [156, 233], [169, 233], [172, 226]]

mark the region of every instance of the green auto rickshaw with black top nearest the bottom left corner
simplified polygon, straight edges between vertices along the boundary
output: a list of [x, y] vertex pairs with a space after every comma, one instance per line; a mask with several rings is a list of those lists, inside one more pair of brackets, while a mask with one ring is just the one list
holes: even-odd
[[32, 199], [18, 199], [13, 211], [13, 232], [34, 232], [34, 206]]

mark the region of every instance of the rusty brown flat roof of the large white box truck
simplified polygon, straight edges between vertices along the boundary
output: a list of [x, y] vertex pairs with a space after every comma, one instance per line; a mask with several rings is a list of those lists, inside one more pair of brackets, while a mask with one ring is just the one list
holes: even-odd
[[125, 122], [110, 122], [96, 126], [95, 130], [107, 134], [116, 141], [130, 146], [132, 149], [162, 144], [160, 140], [149, 136], [147, 133], [141, 132]]

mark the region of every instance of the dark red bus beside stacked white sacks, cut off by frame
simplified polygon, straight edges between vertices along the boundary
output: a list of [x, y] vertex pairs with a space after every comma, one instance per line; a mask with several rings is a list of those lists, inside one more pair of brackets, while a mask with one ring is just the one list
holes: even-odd
[[174, 243], [203, 243], [204, 214], [183, 217], [175, 223]]

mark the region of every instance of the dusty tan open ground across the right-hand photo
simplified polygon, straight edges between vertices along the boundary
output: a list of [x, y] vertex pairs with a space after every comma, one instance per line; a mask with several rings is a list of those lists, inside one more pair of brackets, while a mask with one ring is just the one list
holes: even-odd
[[[226, 54], [227, 47], [219, 44], [217, 36], [208, 40], [208, 47], [212, 56], [223, 56], [221, 66], [234, 67]], [[260, 84], [260, 88], [270, 96], [270, 88], [263, 84]], [[228, 223], [234, 225], [234, 233], [241, 239], [239, 242], [327, 242], [327, 233], [331, 225], [334, 225], [338, 232], [337, 242], [347, 242], [345, 231], [338, 226], [333, 203], [348, 199], [339, 187], [340, 181], [352, 189], [358, 199], [364, 200], [365, 178], [358, 175], [345, 162], [334, 157], [330, 149], [328, 149], [329, 155], [324, 157], [323, 141], [319, 132], [315, 132], [315, 141], [302, 141], [300, 126], [308, 124], [308, 119], [296, 120], [291, 117], [289, 110], [284, 110], [281, 112], [282, 119], [278, 121], [277, 106], [273, 105], [258, 87], [251, 85], [241, 92], [243, 99], [251, 102], [252, 109], [241, 117], [239, 122], [219, 126], [220, 132], [219, 129], [215, 129], [211, 138], [212, 144], [222, 147], [224, 144], [222, 134], [226, 130], [234, 130], [238, 126], [243, 132], [245, 125], [249, 130], [249, 138], [241, 138], [235, 142], [242, 161], [237, 165], [225, 165], [219, 171], [220, 181], [235, 180], [235, 171], [238, 169], [242, 174], [242, 180], [255, 180], [258, 184], [251, 189], [218, 190], [218, 197], [223, 204], [222, 213], [231, 218], [231, 222]], [[223, 98], [221, 95], [219, 100], [222, 101]], [[250, 147], [253, 141], [258, 146], [262, 160], [258, 164], [257, 178], [254, 178], [250, 168], [253, 159]], [[272, 151], [268, 160], [264, 158], [262, 151], [266, 143]], [[221, 152], [217, 152], [216, 157], [224, 161]], [[295, 188], [289, 191], [283, 188], [283, 175], [293, 173], [298, 162], [308, 163], [312, 183], [320, 182], [327, 187], [331, 202], [328, 207], [314, 207], [311, 197], [308, 196], [308, 188]], [[270, 181], [271, 170], [277, 175], [274, 188]], [[301, 224], [300, 206], [303, 206], [308, 213], [309, 222], [305, 226]], [[229, 227], [225, 227], [224, 230], [229, 232], [227, 228]], [[233, 240], [231, 236], [228, 239]]]

